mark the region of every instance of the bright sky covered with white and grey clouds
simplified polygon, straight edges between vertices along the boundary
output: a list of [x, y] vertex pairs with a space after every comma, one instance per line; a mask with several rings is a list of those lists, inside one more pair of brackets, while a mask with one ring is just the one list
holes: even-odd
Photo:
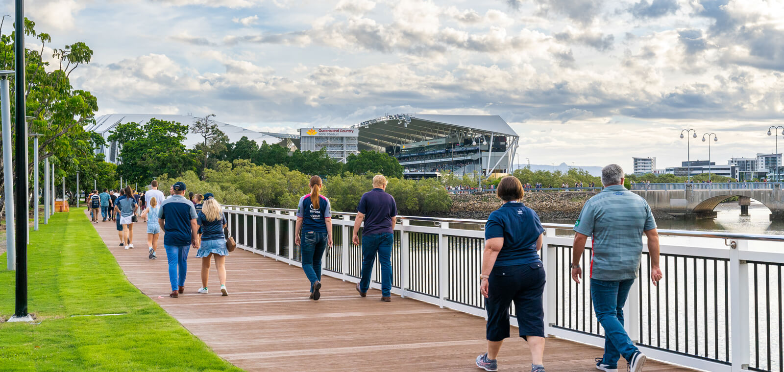
[[[521, 163], [775, 151], [784, 0], [27, 0], [98, 114], [216, 114], [272, 132], [383, 114], [500, 115]], [[3, 2], [13, 14], [13, 2]], [[4, 30], [5, 32], [5, 30]], [[27, 38], [28, 47], [40, 44]], [[779, 129], [781, 130], [781, 129]], [[784, 150], [784, 136], [782, 136]], [[709, 157], [691, 138], [691, 160]]]

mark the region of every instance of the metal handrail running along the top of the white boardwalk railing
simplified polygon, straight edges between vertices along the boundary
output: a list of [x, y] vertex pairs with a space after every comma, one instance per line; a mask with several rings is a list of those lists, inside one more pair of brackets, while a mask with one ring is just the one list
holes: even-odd
[[[251, 208], [251, 209], [265, 209], [267, 211], [296, 211], [296, 209], [289, 208], [264, 208], [264, 207], [250, 207], [244, 205], [223, 205], [223, 208]], [[356, 216], [356, 212], [342, 212], [332, 211], [333, 215], [348, 215]], [[412, 216], [412, 215], [398, 215], [397, 219], [419, 222], [448, 222], [448, 223], [465, 223], [470, 225], [485, 225], [486, 219], [453, 219], [448, 217], [426, 217], [426, 216]], [[572, 229], [573, 224], [568, 223], [552, 223], [543, 222], [542, 227], [545, 229]], [[704, 237], [714, 239], [729, 239], [729, 240], [752, 240], [752, 241], [778, 241], [784, 242], [784, 235], [767, 235], [767, 234], [750, 234], [750, 233], [725, 233], [720, 231], [696, 231], [696, 230], [673, 230], [673, 229], [659, 229], [659, 235], [670, 237]]]

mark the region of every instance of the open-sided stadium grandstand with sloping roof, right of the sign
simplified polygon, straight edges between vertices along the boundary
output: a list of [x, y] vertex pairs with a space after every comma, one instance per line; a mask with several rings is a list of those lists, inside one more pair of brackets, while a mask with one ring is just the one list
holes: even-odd
[[389, 153], [406, 178], [485, 177], [512, 168], [519, 136], [497, 115], [395, 114], [361, 122], [359, 149]]

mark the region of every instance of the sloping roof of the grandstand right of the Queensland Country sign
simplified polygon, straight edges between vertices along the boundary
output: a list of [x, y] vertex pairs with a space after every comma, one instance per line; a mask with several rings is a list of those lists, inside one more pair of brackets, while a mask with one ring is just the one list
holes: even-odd
[[383, 150], [448, 135], [462, 137], [506, 135], [517, 133], [498, 115], [398, 114], [364, 121], [359, 128], [361, 150]]

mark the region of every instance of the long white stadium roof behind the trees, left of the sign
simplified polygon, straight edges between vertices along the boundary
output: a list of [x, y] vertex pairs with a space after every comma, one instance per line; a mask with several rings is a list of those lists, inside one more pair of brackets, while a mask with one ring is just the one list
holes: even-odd
[[[197, 119], [197, 117], [194, 117], [193, 115], [107, 114], [96, 118], [96, 124], [85, 127], [85, 130], [97, 132], [106, 137], [109, 135], [109, 132], [119, 124], [131, 122], [144, 124], [147, 123], [147, 121], [150, 121], [151, 118], [176, 121], [180, 124], [189, 126]], [[218, 128], [229, 137], [230, 142], [237, 142], [243, 136], [248, 137], [248, 139], [252, 139], [259, 144], [263, 141], [267, 141], [267, 143], [279, 143], [281, 141], [280, 138], [266, 133], [252, 131], [248, 128], [241, 128], [237, 125], [230, 125], [221, 121], [215, 121], [215, 123], [218, 125]], [[201, 142], [200, 135], [189, 133], [185, 139], [185, 146], [190, 148], [199, 142]]]

